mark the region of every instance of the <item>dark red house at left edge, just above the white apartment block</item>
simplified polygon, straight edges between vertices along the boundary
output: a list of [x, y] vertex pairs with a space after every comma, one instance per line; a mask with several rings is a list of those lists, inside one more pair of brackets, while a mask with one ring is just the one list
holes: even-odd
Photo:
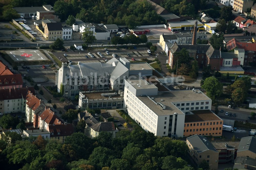
[[0, 89], [22, 88], [21, 74], [0, 75]]

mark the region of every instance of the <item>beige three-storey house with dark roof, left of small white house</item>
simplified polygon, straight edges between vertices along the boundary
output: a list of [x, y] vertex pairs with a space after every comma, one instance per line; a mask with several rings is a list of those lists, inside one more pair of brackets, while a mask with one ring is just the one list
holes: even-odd
[[62, 38], [62, 25], [61, 22], [48, 22], [44, 27], [44, 39], [56, 40]]

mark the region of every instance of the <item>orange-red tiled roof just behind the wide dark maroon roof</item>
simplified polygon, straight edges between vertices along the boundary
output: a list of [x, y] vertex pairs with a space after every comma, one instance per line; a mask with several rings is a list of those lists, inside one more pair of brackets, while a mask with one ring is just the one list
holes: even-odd
[[50, 110], [50, 108], [46, 109], [44, 112], [42, 112], [39, 117], [45, 121], [48, 125], [52, 124], [61, 124], [62, 122], [60, 119], [58, 119], [57, 115]]

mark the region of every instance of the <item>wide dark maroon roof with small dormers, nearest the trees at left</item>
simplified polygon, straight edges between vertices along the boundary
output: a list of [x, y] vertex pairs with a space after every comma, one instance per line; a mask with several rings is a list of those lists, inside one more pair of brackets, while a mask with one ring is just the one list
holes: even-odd
[[[51, 137], [55, 136], [70, 136], [74, 133], [74, 127], [72, 124], [60, 124], [60, 125], [49, 125], [46, 130], [48, 130], [51, 134]], [[60, 134], [58, 135], [58, 132]], [[54, 133], [52, 135], [52, 133]]]

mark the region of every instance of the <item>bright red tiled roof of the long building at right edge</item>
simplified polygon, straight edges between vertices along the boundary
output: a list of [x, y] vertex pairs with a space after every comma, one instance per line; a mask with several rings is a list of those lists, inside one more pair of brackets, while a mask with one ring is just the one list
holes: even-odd
[[235, 47], [242, 48], [244, 51], [256, 51], [256, 44], [255, 43], [245, 43], [239, 42], [237, 39], [233, 38], [232, 40], [226, 43], [227, 49], [232, 50]]

